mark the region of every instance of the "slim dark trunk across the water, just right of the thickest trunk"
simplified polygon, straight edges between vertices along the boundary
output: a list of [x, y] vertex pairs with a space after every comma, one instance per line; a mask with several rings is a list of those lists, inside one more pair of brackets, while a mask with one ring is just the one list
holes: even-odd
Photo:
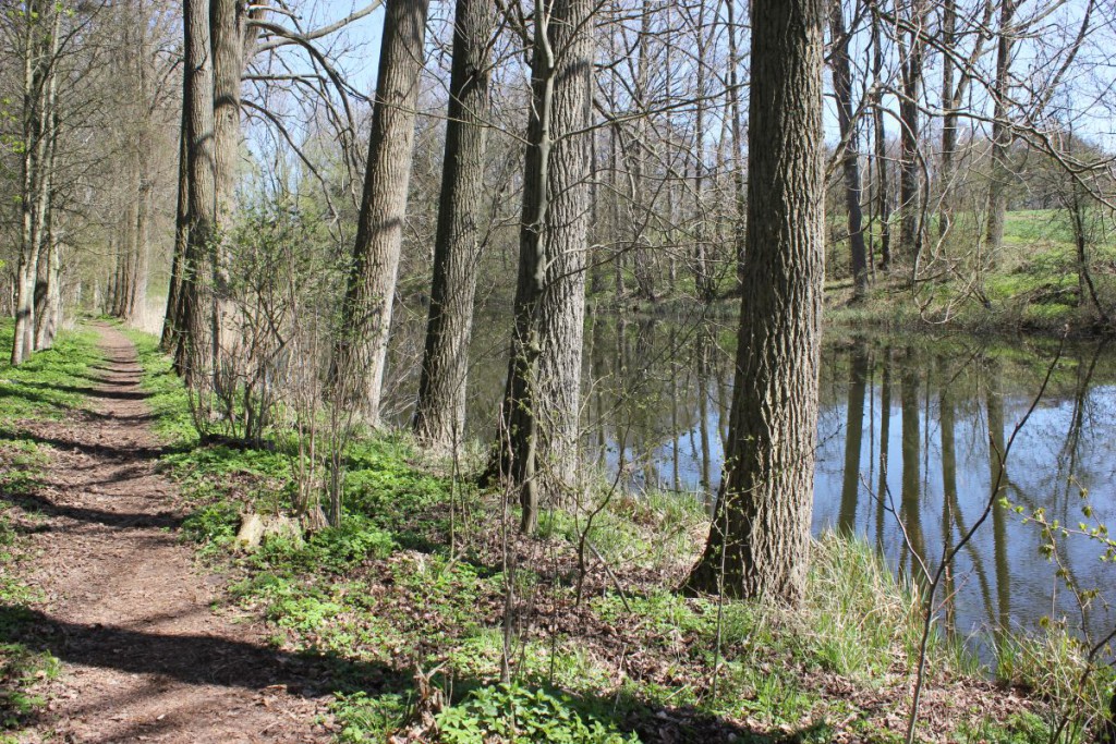
[[834, 94], [837, 98], [837, 122], [845, 153], [841, 165], [845, 171], [845, 210], [848, 213], [849, 268], [853, 270], [853, 298], [863, 300], [868, 293], [868, 259], [864, 245], [864, 216], [860, 212], [860, 145], [853, 119], [853, 68], [849, 64], [848, 41], [845, 32], [845, 15], [840, 0], [833, 0], [829, 9], [829, 27], [833, 36], [831, 65]]

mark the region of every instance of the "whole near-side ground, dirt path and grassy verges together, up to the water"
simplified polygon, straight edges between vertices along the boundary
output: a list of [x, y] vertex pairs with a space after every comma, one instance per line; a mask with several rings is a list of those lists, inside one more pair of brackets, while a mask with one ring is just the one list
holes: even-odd
[[[921, 602], [863, 542], [819, 540], [792, 609], [683, 597], [696, 500], [602, 479], [520, 538], [508, 494], [375, 434], [341, 525], [238, 551], [242, 513], [290, 509], [291, 450], [200, 443], [143, 334], [0, 364], [0, 744], [902, 741]], [[918, 738], [1077, 715], [1074, 659], [1012, 648], [997, 678], [935, 635]]]

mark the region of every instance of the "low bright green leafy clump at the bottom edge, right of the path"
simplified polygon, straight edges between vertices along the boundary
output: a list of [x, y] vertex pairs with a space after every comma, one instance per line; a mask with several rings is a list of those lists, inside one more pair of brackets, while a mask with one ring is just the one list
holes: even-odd
[[437, 715], [444, 744], [625, 744], [638, 743], [607, 719], [583, 714], [574, 698], [519, 685], [473, 690]]

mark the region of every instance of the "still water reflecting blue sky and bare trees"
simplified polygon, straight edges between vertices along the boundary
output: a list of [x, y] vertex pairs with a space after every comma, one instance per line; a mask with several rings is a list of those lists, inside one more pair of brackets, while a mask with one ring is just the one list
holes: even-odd
[[[484, 334], [473, 350], [468, 429], [489, 437], [508, 331], [483, 319], [478, 326]], [[406, 360], [416, 358], [420, 331], [416, 323], [397, 335], [396, 369], [413, 368]], [[636, 491], [715, 493], [733, 337], [731, 322], [593, 323], [583, 373], [585, 457], [612, 474], [623, 468], [622, 482]], [[1041, 508], [1072, 528], [1116, 525], [1116, 354], [1096, 344], [1058, 351], [1056, 342], [1019, 339], [827, 337], [815, 533], [855, 532], [897, 570], [917, 574], [913, 553], [933, 571], [991, 503], [941, 592], [944, 621], [961, 635], [1035, 629], [1046, 617], [1066, 617], [1071, 627], [1084, 621], [1093, 632], [1110, 628], [1116, 616], [1104, 599], [1116, 598], [1108, 591], [1116, 566], [1099, 560], [1103, 547], [1059, 538], [1050, 560], [1040, 529], [1011, 508]], [[395, 415], [405, 421], [413, 375], [394, 384]], [[1076, 586], [1101, 590], [1084, 613], [1059, 569]]]

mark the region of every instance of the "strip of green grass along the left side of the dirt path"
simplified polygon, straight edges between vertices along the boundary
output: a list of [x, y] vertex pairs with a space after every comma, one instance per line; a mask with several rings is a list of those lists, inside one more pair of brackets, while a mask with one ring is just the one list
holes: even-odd
[[42, 685], [58, 670], [56, 658], [37, 650], [29, 608], [41, 598], [25, 578], [33, 558], [26, 535], [39, 525], [23, 500], [50, 457], [50, 446], [28, 427], [78, 407], [90, 367], [102, 358], [94, 334], [62, 331], [54, 349], [13, 368], [8, 364], [12, 326], [0, 321], [0, 743], [6, 744], [23, 741], [19, 732], [46, 705]]

